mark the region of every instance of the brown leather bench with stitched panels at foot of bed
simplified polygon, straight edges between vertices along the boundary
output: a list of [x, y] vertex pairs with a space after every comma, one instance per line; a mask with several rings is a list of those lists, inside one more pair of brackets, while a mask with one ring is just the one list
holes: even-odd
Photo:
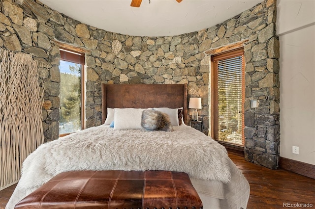
[[171, 171], [68, 171], [15, 209], [202, 209], [189, 176]]

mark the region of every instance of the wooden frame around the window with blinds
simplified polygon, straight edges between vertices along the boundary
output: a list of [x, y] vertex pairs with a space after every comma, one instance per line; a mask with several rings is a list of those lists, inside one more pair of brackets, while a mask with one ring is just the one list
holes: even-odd
[[[242, 59], [242, 145], [237, 145], [234, 143], [229, 143], [225, 141], [218, 140], [218, 60], [232, 58], [235, 56], [243, 56]], [[244, 48], [240, 47], [237, 49], [233, 49], [228, 52], [220, 52], [211, 56], [211, 136], [213, 139], [217, 140], [221, 144], [223, 144], [227, 149], [232, 149], [240, 154], [244, 155], [244, 143], [245, 143], [245, 136], [244, 136], [244, 103], [245, 103], [245, 58], [244, 58]]]

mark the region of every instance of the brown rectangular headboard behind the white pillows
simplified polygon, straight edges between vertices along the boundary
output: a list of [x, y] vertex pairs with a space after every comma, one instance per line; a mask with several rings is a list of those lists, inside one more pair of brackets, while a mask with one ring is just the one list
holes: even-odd
[[187, 124], [187, 84], [104, 84], [102, 83], [102, 123], [107, 108], [183, 107]]

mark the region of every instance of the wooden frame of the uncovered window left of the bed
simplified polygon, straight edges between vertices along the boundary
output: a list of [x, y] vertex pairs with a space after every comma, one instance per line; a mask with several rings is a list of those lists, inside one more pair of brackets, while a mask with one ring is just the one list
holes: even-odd
[[[63, 47], [59, 48], [60, 59], [63, 61], [73, 62], [81, 65], [81, 130], [85, 129], [85, 54], [74, 50], [69, 50]], [[70, 132], [71, 133], [71, 132]], [[70, 133], [59, 134], [60, 137]]]

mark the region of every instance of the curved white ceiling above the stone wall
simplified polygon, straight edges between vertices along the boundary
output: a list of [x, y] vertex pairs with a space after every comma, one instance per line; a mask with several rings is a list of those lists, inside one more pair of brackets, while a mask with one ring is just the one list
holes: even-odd
[[172, 36], [198, 31], [252, 8], [262, 0], [41, 0], [81, 23], [133, 36]]

